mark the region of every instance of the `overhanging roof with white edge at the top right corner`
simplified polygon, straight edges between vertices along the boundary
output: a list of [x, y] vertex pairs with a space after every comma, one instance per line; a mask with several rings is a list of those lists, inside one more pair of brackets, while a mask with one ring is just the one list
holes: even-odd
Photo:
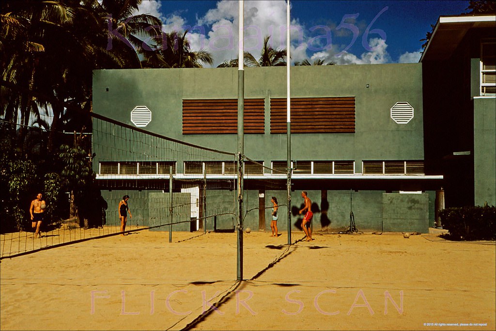
[[496, 15], [439, 16], [420, 62], [447, 60], [472, 28], [496, 28]]

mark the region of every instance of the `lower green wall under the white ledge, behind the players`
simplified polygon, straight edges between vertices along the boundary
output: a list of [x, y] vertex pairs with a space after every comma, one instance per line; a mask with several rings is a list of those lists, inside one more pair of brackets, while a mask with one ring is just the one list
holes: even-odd
[[[129, 209], [132, 218], [128, 216], [127, 229], [133, 226], [149, 226], [154, 231], [169, 231], [169, 226], [160, 226], [173, 223], [173, 231], [190, 231], [189, 193], [173, 194], [173, 215], [170, 215], [170, 194], [158, 191], [102, 191], [103, 198], [108, 202], [106, 211], [106, 226], [120, 227], [117, 206], [124, 195], [129, 195]], [[399, 232], [417, 231], [428, 233], [432, 220], [429, 219], [432, 201], [429, 194], [399, 194], [385, 193], [383, 191], [322, 191], [310, 190], [312, 200], [313, 219], [311, 222], [314, 231], [339, 232], [345, 231], [353, 222], [358, 231], [362, 232]], [[238, 223], [235, 214], [237, 201], [228, 198], [233, 195], [230, 191], [217, 192], [216, 195], [224, 196], [222, 204], [207, 204], [208, 215], [205, 220], [206, 231], [234, 230]], [[286, 205], [286, 191], [266, 191], [265, 224], [259, 227], [258, 191], [247, 190], [244, 193], [243, 217], [245, 228], [253, 231], [270, 232], [272, 204], [270, 197], [275, 196], [279, 201], [279, 219], [277, 227], [279, 233], [288, 230], [288, 208]], [[213, 198], [212, 198], [213, 199]], [[208, 198], [207, 198], [208, 200]], [[298, 211], [303, 208], [303, 198], [300, 192], [292, 193], [291, 203], [291, 230], [302, 231], [301, 223], [304, 215]], [[172, 220], [172, 221], [171, 221]], [[200, 220], [203, 222], [203, 220]], [[215, 222], [215, 223], [214, 223]], [[200, 225], [200, 230], [203, 224]]]

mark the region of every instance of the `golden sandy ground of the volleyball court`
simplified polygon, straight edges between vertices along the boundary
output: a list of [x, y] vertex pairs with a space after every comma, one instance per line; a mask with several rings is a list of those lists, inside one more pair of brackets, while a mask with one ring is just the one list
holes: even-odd
[[2, 259], [1, 330], [496, 328], [495, 242], [302, 238], [245, 234], [242, 282], [235, 233], [144, 230]]

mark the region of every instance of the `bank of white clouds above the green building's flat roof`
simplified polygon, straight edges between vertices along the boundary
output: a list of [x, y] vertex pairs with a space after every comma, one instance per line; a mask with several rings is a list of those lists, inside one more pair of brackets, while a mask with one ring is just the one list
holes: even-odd
[[[208, 10], [196, 22], [187, 22], [180, 14], [175, 13], [164, 17], [160, 14], [161, 3], [158, 0], [143, 1], [140, 12], [153, 14], [163, 21], [163, 30], [182, 31], [190, 29], [187, 39], [193, 51], [203, 49], [212, 54], [213, 66], [224, 60], [238, 58], [238, 1], [220, 0], [216, 7]], [[245, 0], [245, 30], [244, 49], [258, 59], [265, 36], [270, 35], [270, 45], [273, 48], [286, 48], [286, 8], [285, 0]], [[331, 26], [329, 26], [331, 29]], [[335, 35], [337, 31], [332, 31]], [[334, 36], [333, 35], [333, 36]], [[299, 21], [291, 21], [291, 62], [301, 62], [309, 59], [313, 62], [322, 59], [336, 65], [347, 64], [384, 64], [391, 63], [387, 52], [387, 44], [381, 38], [369, 40], [370, 50], [357, 56], [342, 52], [344, 45], [331, 45], [323, 28], [306, 31]], [[312, 37], [312, 38], [310, 38]], [[309, 56], [310, 55], [310, 56]], [[405, 53], [399, 57], [399, 63], [418, 62], [418, 52]]]

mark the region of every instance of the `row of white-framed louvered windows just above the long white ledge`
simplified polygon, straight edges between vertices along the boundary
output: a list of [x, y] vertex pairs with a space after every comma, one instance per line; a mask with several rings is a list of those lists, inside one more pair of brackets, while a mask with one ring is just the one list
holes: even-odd
[[[263, 161], [246, 161], [244, 173], [263, 175]], [[160, 162], [100, 162], [100, 175], [168, 175], [176, 173], [175, 161]], [[355, 161], [293, 161], [293, 174], [354, 174]], [[272, 174], [286, 174], [287, 161], [272, 161]], [[266, 171], [265, 171], [266, 172]], [[185, 175], [235, 175], [234, 161], [185, 161]], [[424, 174], [424, 161], [363, 161], [364, 175], [420, 175]]]

